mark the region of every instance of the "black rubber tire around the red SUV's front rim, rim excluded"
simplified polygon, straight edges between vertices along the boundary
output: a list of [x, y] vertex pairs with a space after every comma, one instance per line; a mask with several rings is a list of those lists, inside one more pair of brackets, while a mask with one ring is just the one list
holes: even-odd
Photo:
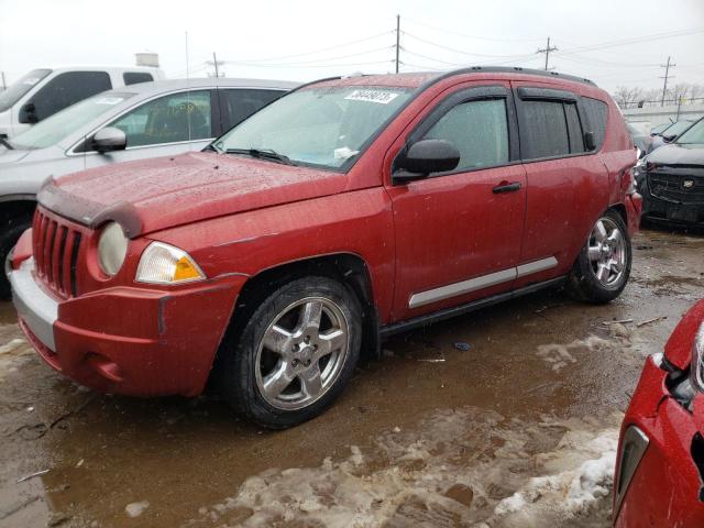
[[[261, 369], [257, 354], [262, 353], [263, 344], [260, 343], [263, 343], [270, 327], [283, 320], [279, 319], [282, 314], [286, 314], [288, 308], [297, 302], [305, 302], [309, 298], [328, 299], [340, 309], [348, 329], [346, 353], [340, 366], [334, 370], [338, 374], [318, 399], [302, 408], [284, 409], [272, 405], [260, 388], [262, 374], [258, 380], [256, 374], [257, 369]], [[235, 328], [237, 324], [231, 330]], [[228, 332], [218, 352], [213, 378], [219, 393], [238, 413], [264, 427], [284, 429], [318, 416], [339, 396], [354, 372], [361, 343], [362, 308], [354, 293], [328, 277], [299, 278], [275, 289], [254, 309], [240, 330]], [[324, 366], [322, 369], [324, 371]], [[302, 378], [298, 381], [295, 378], [294, 383], [302, 384]], [[300, 394], [304, 394], [302, 385], [300, 386]]]

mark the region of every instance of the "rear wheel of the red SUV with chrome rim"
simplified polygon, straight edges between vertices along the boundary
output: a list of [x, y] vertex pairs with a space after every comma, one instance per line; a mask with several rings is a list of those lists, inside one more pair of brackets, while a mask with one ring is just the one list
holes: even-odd
[[602, 216], [570, 273], [568, 290], [578, 300], [608, 302], [620, 295], [630, 275], [628, 229], [616, 211]]

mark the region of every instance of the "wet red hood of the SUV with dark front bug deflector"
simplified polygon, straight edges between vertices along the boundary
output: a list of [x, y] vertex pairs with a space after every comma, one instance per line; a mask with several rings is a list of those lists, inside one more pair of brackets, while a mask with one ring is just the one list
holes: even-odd
[[341, 193], [344, 174], [210, 152], [108, 165], [44, 186], [40, 202], [80, 223], [120, 221], [130, 238]]

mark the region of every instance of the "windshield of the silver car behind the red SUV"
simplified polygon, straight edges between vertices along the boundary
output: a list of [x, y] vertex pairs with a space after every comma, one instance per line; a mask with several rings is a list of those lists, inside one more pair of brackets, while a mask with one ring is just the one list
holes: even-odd
[[45, 148], [55, 145], [132, 96], [134, 94], [105, 92], [85, 99], [12, 138], [12, 146], [15, 148]]

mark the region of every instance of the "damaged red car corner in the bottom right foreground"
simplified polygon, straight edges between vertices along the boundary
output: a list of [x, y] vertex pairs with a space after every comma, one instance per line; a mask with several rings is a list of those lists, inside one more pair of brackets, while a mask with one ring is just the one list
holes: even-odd
[[704, 300], [646, 361], [626, 413], [614, 479], [619, 528], [704, 526], [704, 387], [691, 376], [702, 354]]

